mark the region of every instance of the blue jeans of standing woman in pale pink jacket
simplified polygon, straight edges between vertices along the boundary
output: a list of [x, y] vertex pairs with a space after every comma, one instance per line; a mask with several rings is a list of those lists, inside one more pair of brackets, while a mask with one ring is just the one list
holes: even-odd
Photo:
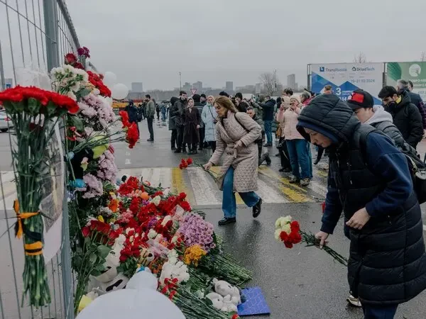
[[309, 152], [307, 151], [306, 140], [285, 140], [287, 142], [290, 164], [293, 175], [297, 179], [310, 179], [312, 174], [310, 167]]

